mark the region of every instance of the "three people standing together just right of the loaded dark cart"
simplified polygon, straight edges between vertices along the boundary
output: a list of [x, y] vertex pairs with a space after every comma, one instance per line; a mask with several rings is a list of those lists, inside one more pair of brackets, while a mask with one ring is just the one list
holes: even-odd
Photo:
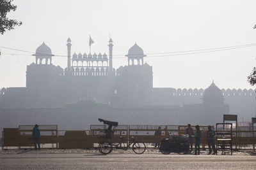
[[[200, 155], [200, 137], [201, 137], [201, 131], [199, 125], [196, 125], [196, 133], [194, 133], [193, 128], [191, 127], [191, 124], [188, 124], [188, 127], [186, 129], [186, 134], [189, 136], [189, 145], [191, 148], [191, 151], [193, 150], [193, 137], [195, 137], [195, 155]], [[208, 126], [208, 131], [206, 132], [206, 138], [207, 143], [209, 147], [209, 153], [208, 155], [216, 155], [216, 148], [214, 143], [214, 136], [215, 132], [212, 129], [211, 125]], [[213, 151], [213, 153], [212, 153]]]

